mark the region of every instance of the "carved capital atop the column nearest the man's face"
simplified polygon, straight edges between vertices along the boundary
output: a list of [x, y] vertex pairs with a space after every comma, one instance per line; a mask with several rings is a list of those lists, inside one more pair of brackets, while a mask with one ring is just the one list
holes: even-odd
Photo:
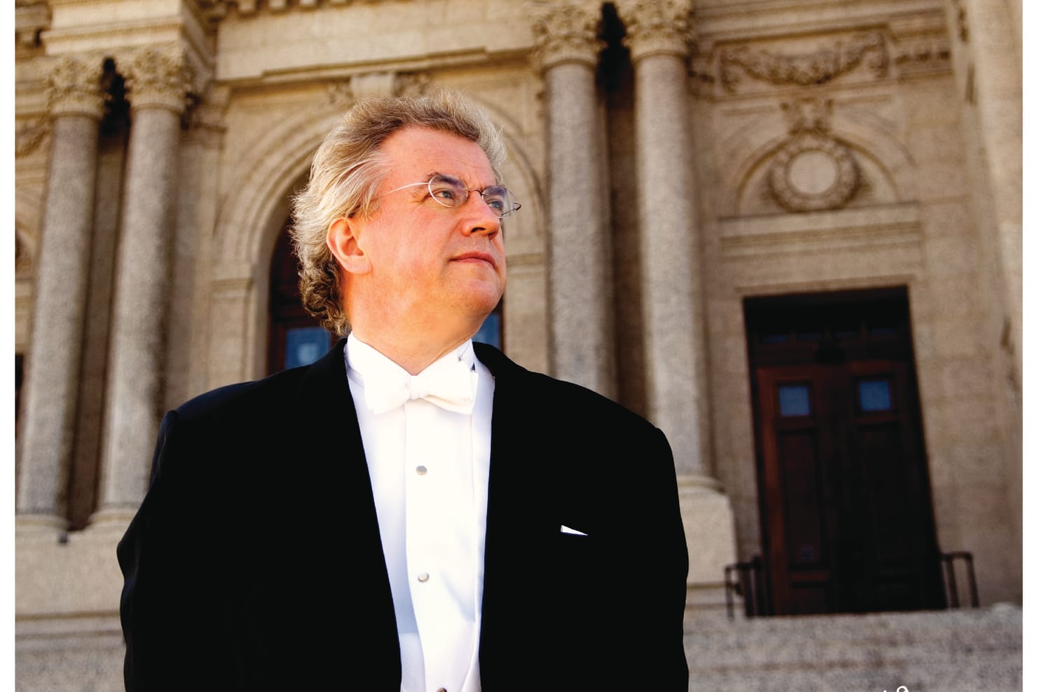
[[597, 37], [600, 9], [582, 0], [540, 0], [533, 4], [535, 59], [541, 71], [563, 62], [593, 67], [605, 41]]

